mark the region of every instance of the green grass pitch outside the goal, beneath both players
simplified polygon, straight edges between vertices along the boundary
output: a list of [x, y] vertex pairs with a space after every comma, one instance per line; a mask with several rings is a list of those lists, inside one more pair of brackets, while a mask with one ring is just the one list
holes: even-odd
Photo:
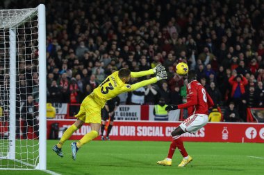
[[[170, 142], [93, 141], [70, 157], [70, 142], [63, 147], [64, 158], [51, 148], [57, 140], [47, 140], [47, 169], [58, 174], [156, 175], [156, 174], [264, 174], [264, 145], [260, 143], [185, 142], [193, 161], [187, 167], [175, 151], [172, 167], [157, 165], [167, 156]], [[46, 174], [41, 171], [0, 171], [0, 174]]]

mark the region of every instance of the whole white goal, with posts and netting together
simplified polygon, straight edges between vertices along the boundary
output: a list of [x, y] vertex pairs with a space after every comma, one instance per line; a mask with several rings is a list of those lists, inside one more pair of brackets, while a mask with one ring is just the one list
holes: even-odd
[[45, 8], [0, 10], [0, 169], [46, 169]]

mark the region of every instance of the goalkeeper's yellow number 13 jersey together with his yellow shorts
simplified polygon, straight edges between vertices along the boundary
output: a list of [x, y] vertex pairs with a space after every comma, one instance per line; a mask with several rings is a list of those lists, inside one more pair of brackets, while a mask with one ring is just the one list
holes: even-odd
[[[131, 77], [142, 77], [154, 74], [153, 70], [131, 72]], [[118, 71], [112, 73], [102, 82], [94, 91], [88, 95], [81, 103], [80, 111], [75, 115], [76, 118], [86, 123], [101, 123], [101, 108], [104, 107], [107, 100], [110, 100], [120, 93], [134, 91], [142, 86], [156, 83], [157, 78], [138, 82], [135, 84], [125, 84], [118, 77]]]

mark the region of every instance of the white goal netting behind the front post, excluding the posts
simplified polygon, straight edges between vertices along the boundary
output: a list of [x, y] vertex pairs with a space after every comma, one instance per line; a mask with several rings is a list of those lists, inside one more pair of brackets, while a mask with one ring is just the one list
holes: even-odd
[[[15, 29], [13, 54], [10, 29]], [[10, 57], [14, 54], [15, 91], [10, 92]], [[0, 10], [0, 169], [32, 169], [38, 165], [38, 62], [38, 8]], [[10, 93], [16, 93], [15, 107], [11, 107]], [[10, 110], [14, 109], [12, 140]], [[15, 153], [10, 149], [14, 141]]]

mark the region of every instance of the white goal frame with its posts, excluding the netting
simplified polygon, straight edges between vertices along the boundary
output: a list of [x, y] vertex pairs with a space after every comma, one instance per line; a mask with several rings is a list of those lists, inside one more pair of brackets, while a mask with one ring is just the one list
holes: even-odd
[[[38, 165], [32, 169], [47, 169], [47, 115], [46, 115], [46, 103], [47, 103], [47, 83], [46, 83], [46, 15], [45, 6], [40, 4], [38, 7], [38, 55], [39, 55], [39, 157]], [[37, 14], [37, 13], [36, 13]], [[21, 21], [26, 21], [27, 17], [22, 18]], [[29, 18], [28, 18], [29, 19]], [[21, 23], [15, 23], [9, 28], [9, 39], [10, 39], [10, 115], [9, 115], [9, 149], [6, 159], [14, 160], [23, 163], [21, 160], [15, 158], [15, 129], [16, 129], [16, 28]], [[0, 168], [1, 169], [1, 168]], [[12, 169], [12, 168], [2, 168]], [[17, 168], [13, 168], [17, 170]], [[22, 169], [27, 170], [27, 169]], [[29, 170], [29, 169], [28, 169]]]

